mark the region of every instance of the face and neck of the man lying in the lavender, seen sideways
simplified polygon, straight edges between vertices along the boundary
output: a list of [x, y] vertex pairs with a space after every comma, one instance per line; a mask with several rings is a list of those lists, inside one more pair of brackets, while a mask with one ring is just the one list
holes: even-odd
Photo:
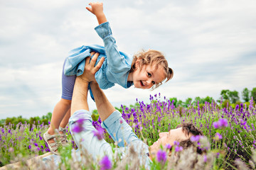
[[169, 132], [160, 132], [159, 139], [154, 142], [153, 145], [149, 147], [149, 151], [151, 152], [151, 156], [155, 157], [156, 152], [159, 151], [161, 146], [164, 148], [167, 144], [171, 146], [174, 145], [174, 141], [183, 141], [188, 140], [191, 135], [186, 135], [182, 128], [177, 128], [174, 130], [170, 130]]

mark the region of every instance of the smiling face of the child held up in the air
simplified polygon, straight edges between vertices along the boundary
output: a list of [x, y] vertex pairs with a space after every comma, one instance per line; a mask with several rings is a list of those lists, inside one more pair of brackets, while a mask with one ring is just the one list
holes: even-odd
[[150, 89], [154, 84], [159, 84], [166, 79], [164, 68], [159, 65], [156, 69], [156, 64], [142, 65], [141, 68], [136, 64], [137, 69], [129, 74], [128, 81], [133, 81], [134, 86], [139, 89]]

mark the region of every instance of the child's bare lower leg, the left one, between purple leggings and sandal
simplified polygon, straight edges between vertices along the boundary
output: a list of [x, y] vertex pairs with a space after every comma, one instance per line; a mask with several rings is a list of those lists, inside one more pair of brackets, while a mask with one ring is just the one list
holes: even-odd
[[[53, 115], [50, 120], [50, 128], [48, 128], [48, 133], [50, 135], [55, 134], [55, 129], [58, 130], [60, 126], [60, 122], [65, 117], [65, 114], [68, 110], [70, 110], [71, 101], [61, 98], [60, 101], [56, 104], [55, 108], [53, 109]], [[48, 140], [49, 143], [53, 143], [54, 140]]]

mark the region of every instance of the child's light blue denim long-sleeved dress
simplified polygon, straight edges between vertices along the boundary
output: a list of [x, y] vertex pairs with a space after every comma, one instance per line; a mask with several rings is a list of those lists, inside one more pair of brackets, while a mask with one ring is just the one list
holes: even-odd
[[102, 23], [95, 28], [97, 34], [102, 38], [104, 46], [100, 45], [82, 45], [70, 51], [70, 55], [65, 60], [64, 74], [67, 76], [80, 76], [85, 69], [85, 58], [90, 57], [90, 52], [99, 52], [100, 55], [96, 64], [101, 57], [105, 57], [102, 67], [95, 74], [95, 79], [100, 89], [108, 89], [114, 84], [119, 84], [124, 88], [132, 86], [128, 82], [128, 74], [132, 65], [132, 56], [117, 50], [116, 41], [112, 36], [110, 23]]

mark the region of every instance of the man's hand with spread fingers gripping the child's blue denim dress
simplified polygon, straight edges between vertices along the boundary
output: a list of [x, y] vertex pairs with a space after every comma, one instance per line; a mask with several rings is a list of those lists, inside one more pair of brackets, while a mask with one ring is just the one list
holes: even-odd
[[102, 57], [100, 59], [100, 62], [97, 63], [97, 65], [95, 66], [95, 63], [97, 61], [97, 57], [99, 57], [99, 53], [95, 53], [95, 52], [91, 52], [91, 56], [94, 55], [92, 57], [92, 60], [90, 60], [90, 57], [87, 57], [85, 59], [85, 70], [83, 72], [83, 74], [78, 78], [82, 79], [82, 81], [87, 82], [88, 84], [90, 83], [90, 81], [96, 81], [95, 80], [95, 73], [100, 69], [100, 67], [102, 66], [105, 58]]

